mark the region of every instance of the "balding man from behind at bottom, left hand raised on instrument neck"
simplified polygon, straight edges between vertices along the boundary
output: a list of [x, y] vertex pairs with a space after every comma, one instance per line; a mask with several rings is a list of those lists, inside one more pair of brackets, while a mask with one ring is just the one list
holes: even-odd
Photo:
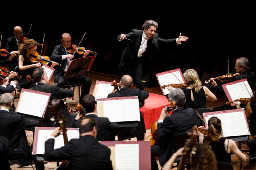
[[110, 149], [96, 139], [97, 122], [93, 118], [85, 118], [79, 128], [80, 138], [71, 139], [68, 144], [54, 148], [54, 139], [62, 132], [60, 127], [45, 142], [44, 159], [47, 161], [70, 161], [70, 170], [112, 170]]

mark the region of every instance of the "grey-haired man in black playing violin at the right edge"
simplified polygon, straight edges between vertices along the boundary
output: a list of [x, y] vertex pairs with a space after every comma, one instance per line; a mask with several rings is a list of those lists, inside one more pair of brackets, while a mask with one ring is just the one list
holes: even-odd
[[[241, 57], [241, 58], [237, 58], [235, 60], [235, 70], [236, 73], [240, 73], [240, 75], [234, 76], [232, 81], [236, 81], [236, 80], [241, 80], [241, 79], [247, 79], [248, 84], [253, 87], [255, 81], [256, 81], [256, 77], [255, 77], [255, 73], [250, 71], [250, 62], [247, 58], [245, 57]], [[214, 78], [211, 78], [211, 83], [214, 86], [216, 92], [221, 93], [221, 94], [225, 94], [224, 90], [222, 88], [222, 86], [217, 85], [216, 81], [214, 80]], [[246, 105], [245, 104], [240, 104], [240, 107], [245, 108]], [[220, 106], [216, 106], [212, 109], [212, 111], [220, 111], [220, 110], [231, 110], [231, 109], [236, 109], [236, 106], [231, 106], [230, 104], [223, 104]]]

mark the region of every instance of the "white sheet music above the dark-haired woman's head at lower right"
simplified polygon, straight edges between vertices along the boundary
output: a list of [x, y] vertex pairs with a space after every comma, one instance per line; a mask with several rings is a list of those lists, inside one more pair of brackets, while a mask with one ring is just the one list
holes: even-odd
[[224, 137], [249, 135], [243, 111], [208, 115], [206, 122], [213, 116], [220, 119]]

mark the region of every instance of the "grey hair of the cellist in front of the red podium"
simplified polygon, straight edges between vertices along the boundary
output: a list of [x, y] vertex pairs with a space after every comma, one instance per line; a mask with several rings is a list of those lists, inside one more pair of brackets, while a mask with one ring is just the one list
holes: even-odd
[[186, 102], [186, 95], [185, 95], [184, 91], [181, 90], [180, 88], [172, 90], [168, 94], [168, 98], [169, 98], [169, 100], [176, 102], [176, 105], [178, 107], [182, 107]]

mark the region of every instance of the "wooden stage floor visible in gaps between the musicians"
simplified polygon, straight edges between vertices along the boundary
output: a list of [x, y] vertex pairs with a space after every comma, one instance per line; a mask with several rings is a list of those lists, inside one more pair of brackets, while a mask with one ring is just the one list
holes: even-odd
[[[90, 89], [90, 94], [92, 94], [93, 89], [94, 89], [94, 85], [96, 80], [100, 80], [100, 81], [108, 81], [108, 82], [112, 82], [113, 80], [116, 80], [117, 82], [119, 82], [120, 77], [115, 76], [115, 75], [109, 75], [109, 74], [104, 74], [104, 73], [98, 73], [98, 72], [90, 72], [90, 74], [87, 74], [87, 76], [92, 80], [92, 85], [91, 85], [91, 89]], [[51, 78], [50, 84], [54, 84], [53, 82], [53, 77]], [[135, 88], [135, 86], [133, 86], [133, 88]], [[155, 93], [155, 94], [160, 94], [162, 95], [162, 91], [160, 89], [159, 86], [156, 87], [145, 87], [145, 90], [147, 90], [150, 93]], [[14, 93], [13, 93], [14, 94]], [[19, 96], [19, 93], [17, 93]], [[78, 103], [78, 87], [75, 88], [75, 93], [74, 93], [74, 100], [72, 100], [72, 98], [67, 98], [67, 102], [68, 105], [71, 108], [76, 108], [76, 105]], [[18, 99], [15, 99], [15, 106], [17, 105]], [[206, 103], [206, 107], [212, 109], [213, 107], [217, 106], [217, 105], [221, 105], [224, 104], [225, 102], [227, 102], [226, 99], [222, 99], [222, 98], [217, 98], [216, 102], [208, 102]], [[28, 135], [28, 140], [30, 143], [33, 142], [33, 137], [32, 137], [32, 132], [31, 131], [26, 131], [27, 135]], [[150, 136], [150, 129], [146, 130], [146, 134], [145, 134], [145, 140], [149, 141], [151, 138]], [[131, 140], [136, 140], [136, 138], [132, 138]], [[246, 146], [244, 144], [242, 144], [242, 149], [246, 148]], [[240, 169], [240, 161], [238, 160], [236, 155], [232, 155], [232, 165], [235, 169]], [[159, 165], [159, 164], [158, 164]], [[243, 165], [245, 166], [246, 169], [249, 169], [249, 163], [248, 161], [243, 162]], [[17, 168], [17, 164], [14, 164], [11, 166], [12, 170], [33, 170], [31, 166], [26, 166], [24, 168]], [[33, 165], [34, 167], [34, 165]], [[47, 162], [47, 164], [45, 164], [45, 170], [52, 170], [53, 168], [56, 167], [56, 162]], [[253, 168], [256, 168], [256, 164], [253, 165]], [[159, 166], [160, 169], [160, 166]], [[244, 168], [243, 168], [244, 169]], [[172, 170], [176, 170], [176, 168], [173, 168]]]

